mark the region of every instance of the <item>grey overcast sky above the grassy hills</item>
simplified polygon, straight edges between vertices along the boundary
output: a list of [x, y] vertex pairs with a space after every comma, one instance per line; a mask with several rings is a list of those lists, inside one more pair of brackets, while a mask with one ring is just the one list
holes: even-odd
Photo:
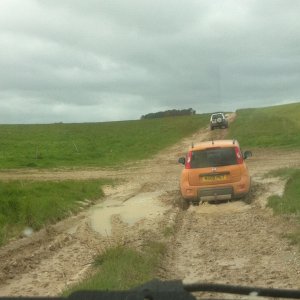
[[0, 123], [298, 102], [298, 0], [0, 0]]

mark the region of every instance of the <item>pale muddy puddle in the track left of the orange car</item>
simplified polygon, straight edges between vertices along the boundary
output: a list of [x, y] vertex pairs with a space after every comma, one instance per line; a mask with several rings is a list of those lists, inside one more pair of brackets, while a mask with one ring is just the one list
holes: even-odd
[[92, 208], [91, 227], [102, 235], [111, 235], [111, 220], [115, 215], [128, 225], [142, 219], [155, 219], [163, 215], [167, 209], [159, 200], [161, 195], [161, 192], [140, 193], [126, 201], [108, 198]]

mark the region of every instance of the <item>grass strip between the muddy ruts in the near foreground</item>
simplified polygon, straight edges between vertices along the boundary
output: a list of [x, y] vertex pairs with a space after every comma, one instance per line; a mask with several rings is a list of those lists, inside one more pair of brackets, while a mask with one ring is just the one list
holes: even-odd
[[164, 255], [163, 243], [150, 241], [143, 251], [124, 246], [107, 249], [95, 260], [94, 274], [63, 293], [78, 290], [128, 290], [155, 277]]

